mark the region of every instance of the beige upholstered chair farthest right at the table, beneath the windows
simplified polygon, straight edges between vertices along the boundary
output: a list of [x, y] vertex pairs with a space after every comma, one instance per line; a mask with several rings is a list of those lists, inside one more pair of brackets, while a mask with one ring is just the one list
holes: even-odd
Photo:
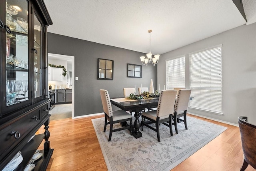
[[[175, 132], [178, 134], [178, 127], [177, 127], [177, 120], [183, 121], [185, 124], [185, 128], [188, 129], [187, 125], [187, 109], [188, 109], [188, 102], [191, 94], [191, 89], [180, 89], [178, 90], [175, 105], [174, 105], [174, 114], [172, 123], [175, 127]], [[182, 117], [184, 119], [180, 119]]]

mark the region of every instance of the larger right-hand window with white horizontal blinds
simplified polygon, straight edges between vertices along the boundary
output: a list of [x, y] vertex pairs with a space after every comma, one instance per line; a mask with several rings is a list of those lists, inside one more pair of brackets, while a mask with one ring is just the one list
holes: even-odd
[[221, 113], [221, 46], [190, 55], [190, 107]]

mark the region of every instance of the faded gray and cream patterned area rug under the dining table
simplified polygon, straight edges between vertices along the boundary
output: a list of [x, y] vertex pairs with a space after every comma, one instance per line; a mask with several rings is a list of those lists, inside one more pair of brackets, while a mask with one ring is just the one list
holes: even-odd
[[[140, 118], [141, 119], [141, 118]], [[135, 118], [132, 120], [135, 121]], [[104, 130], [104, 117], [92, 119], [108, 171], [170, 171], [227, 128], [187, 117], [188, 129], [178, 123], [178, 134], [160, 124], [160, 140], [156, 132], [144, 126], [142, 137], [136, 139], [128, 129], [112, 133], [108, 142], [109, 125]], [[121, 127], [119, 123], [113, 128]]]

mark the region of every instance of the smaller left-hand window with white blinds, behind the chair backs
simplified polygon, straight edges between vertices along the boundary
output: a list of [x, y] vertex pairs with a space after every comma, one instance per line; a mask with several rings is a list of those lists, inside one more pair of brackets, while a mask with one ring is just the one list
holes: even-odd
[[185, 56], [166, 61], [166, 89], [185, 87]]

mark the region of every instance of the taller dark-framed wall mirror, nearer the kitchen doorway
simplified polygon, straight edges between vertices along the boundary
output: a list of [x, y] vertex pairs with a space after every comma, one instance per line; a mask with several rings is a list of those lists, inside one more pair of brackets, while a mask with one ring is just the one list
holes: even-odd
[[113, 80], [114, 61], [98, 58], [98, 80]]

